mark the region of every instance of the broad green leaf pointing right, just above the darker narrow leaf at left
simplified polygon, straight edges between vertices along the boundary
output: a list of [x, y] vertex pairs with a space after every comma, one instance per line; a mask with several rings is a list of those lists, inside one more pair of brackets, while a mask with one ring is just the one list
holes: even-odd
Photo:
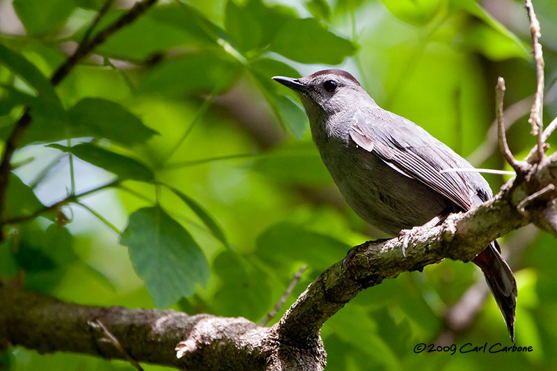
[[116, 102], [101, 98], [85, 98], [68, 111], [70, 136], [97, 136], [123, 145], [144, 143], [155, 130]]

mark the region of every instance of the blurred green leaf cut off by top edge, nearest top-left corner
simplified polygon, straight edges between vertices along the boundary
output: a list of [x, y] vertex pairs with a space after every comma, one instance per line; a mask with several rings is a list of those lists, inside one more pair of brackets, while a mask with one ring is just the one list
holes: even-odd
[[75, 8], [72, 0], [14, 0], [13, 8], [28, 33], [45, 33], [65, 22]]

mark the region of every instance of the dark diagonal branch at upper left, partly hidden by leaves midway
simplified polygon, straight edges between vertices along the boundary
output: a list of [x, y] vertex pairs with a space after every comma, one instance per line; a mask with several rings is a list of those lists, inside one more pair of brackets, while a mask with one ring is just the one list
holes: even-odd
[[[150, 6], [157, 0], [143, 0], [136, 3], [130, 10], [127, 11], [122, 17], [118, 18], [116, 22], [107, 26], [105, 29], [97, 33], [91, 42], [79, 45], [74, 54], [70, 56], [65, 62], [54, 72], [50, 82], [53, 86], [58, 85], [68, 73], [77, 65], [81, 59], [93, 52], [95, 47], [99, 46], [110, 35], [118, 31], [123, 26], [134, 22], [134, 20], [143, 14]], [[95, 22], [95, 21], [93, 21]], [[10, 175], [10, 161], [13, 153], [17, 149], [17, 145], [22, 139], [24, 132], [31, 123], [31, 115], [29, 114], [29, 107], [24, 110], [21, 118], [15, 123], [15, 126], [6, 140], [3, 148], [2, 159], [0, 161], [0, 211], [6, 205], [6, 190], [8, 189], [8, 179]], [[1, 237], [0, 237], [1, 238]]]

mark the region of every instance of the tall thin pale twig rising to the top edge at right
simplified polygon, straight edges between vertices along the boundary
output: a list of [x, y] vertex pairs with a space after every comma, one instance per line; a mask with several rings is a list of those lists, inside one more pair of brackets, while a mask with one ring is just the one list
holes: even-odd
[[544, 58], [542, 56], [542, 45], [538, 40], [542, 33], [540, 32], [540, 22], [535, 16], [534, 7], [531, 0], [526, 0], [526, 10], [530, 19], [530, 33], [532, 35], [532, 49], [535, 61], [536, 90], [534, 104], [530, 113], [528, 123], [532, 125], [532, 134], [538, 139], [538, 161], [544, 158], [544, 141], [542, 140], [543, 132], [543, 101], [544, 101]]

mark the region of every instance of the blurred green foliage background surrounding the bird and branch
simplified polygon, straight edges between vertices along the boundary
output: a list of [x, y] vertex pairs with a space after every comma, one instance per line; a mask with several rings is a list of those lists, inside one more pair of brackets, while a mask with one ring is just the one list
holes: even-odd
[[[258, 321], [301, 265], [309, 269], [283, 311], [350, 246], [382, 237], [343, 203], [297, 98], [274, 75], [338, 65], [379, 105], [463, 156], [485, 140], [497, 76], [507, 81], [507, 105], [535, 89], [518, 0], [165, 1], [53, 88], [48, 78], [103, 3], [0, 0], [8, 24], [0, 24], [0, 138], [24, 106], [33, 118], [13, 159], [2, 215], [14, 223], [3, 231], [0, 279], [19, 276], [30, 290], [77, 303]], [[557, 2], [534, 5], [550, 88]], [[113, 6], [92, 35], [124, 12]], [[546, 123], [557, 115], [554, 95]], [[534, 143], [527, 114], [509, 131], [515, 152]], [[504, 166], [494, 152], [475, 165]], [[487, 178], [494, 190], [503, 182]], [[414, 353], [421, 342], [509, 345], [491, 298], [464, 331], [440, 338], [448, 308], [483, 280], [472, 265], [446, 261], [384, 281], [332, 317], [322, 329], [329, 370], [556, 369], [556, 242], [525, 230], [501, 242], [519, 285], [517, 345], [534, 352]], [[21, 348], [0, 354], [2, 366], [132, 369]]]

